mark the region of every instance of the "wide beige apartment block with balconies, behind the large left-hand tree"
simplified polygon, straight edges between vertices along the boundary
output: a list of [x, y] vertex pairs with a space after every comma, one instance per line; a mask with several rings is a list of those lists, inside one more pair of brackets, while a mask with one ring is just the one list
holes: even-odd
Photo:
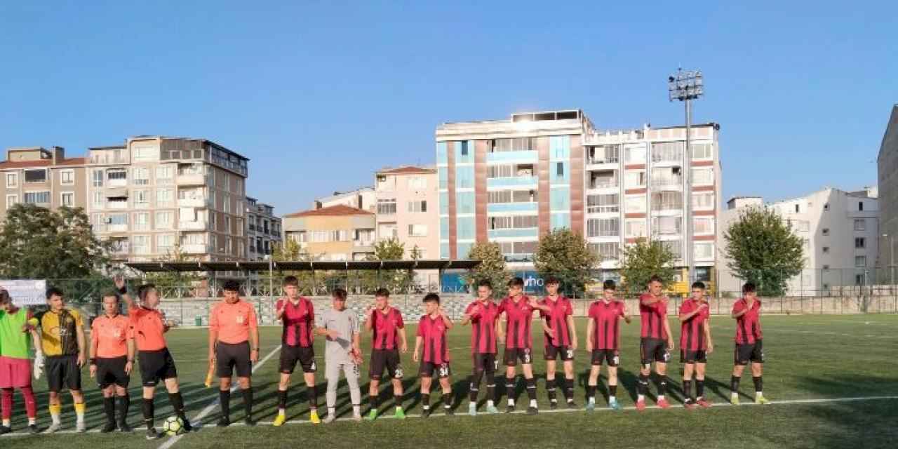
[[215, 142], [136, 136], [88, 149], [87, 210], [116, 260], [247, 257], [249, 159]]

